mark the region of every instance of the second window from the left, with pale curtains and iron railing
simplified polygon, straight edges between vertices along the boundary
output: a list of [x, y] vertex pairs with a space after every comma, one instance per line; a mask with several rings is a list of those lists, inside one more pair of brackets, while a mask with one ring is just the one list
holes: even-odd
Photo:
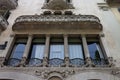
[[29, 66], [40, 66], [43, 61], [45, 38], [35, 38], [32, 42]]

